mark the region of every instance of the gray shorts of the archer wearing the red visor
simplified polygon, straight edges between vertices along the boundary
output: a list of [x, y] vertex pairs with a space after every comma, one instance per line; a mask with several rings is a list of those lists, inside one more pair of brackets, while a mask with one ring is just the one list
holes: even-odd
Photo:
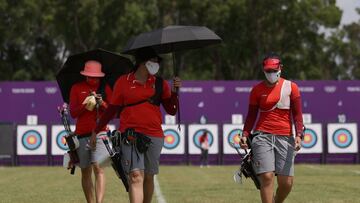
[[293, 136], [259, 134], [251, 142], [253, 168], [256, 174], [274, 171], [294, 176], [295, 139]]

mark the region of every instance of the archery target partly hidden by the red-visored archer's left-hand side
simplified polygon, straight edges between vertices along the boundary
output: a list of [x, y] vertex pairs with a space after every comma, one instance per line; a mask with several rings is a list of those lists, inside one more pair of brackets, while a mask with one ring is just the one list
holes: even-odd
[[240, 136], [242, 135], [243, 127], [244, 127], [243, 124], [224, 124], [223, 125], [224, 154], [237, 154], [235, 148], [239, 149], [240, 153], [245, 153], [245, 151], [243, 149], [240, 149]]

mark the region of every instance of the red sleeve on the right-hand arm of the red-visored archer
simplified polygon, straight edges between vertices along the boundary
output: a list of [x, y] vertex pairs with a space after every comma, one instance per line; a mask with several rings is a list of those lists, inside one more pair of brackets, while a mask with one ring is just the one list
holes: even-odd
[[302, 119], [301, 96], [299, 88], [291, 83], [290, 108], [294, 120], [296, 135], [303, 133], [304, 123]]

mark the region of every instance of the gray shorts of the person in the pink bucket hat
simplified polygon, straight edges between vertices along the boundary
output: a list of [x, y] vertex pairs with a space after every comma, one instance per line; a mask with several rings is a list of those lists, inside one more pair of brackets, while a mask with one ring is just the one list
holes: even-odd
[[92, 163], [98, 163], [102, 165], [109, 160], [109, 152], [107, 151], [105, 144], [102, 140], [102, 136], [107, 138], [106, 132], [100, 132], [96, 136], [96, 148], [90, 149], [90, 137], [84, 137], [79, 139], [79, 148], [76, 150], [79, 156], [79, 167], [87, 168]]

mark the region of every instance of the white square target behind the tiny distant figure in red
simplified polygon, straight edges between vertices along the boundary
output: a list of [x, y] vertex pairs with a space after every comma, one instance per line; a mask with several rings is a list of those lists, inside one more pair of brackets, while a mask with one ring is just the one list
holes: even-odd
[[189, 128], [189, 154], [201, 154], [200, 137], [206, 131], [209, 141], [209, 154], [219, 153], [218, 125], [217, 124], [192, 124]]

